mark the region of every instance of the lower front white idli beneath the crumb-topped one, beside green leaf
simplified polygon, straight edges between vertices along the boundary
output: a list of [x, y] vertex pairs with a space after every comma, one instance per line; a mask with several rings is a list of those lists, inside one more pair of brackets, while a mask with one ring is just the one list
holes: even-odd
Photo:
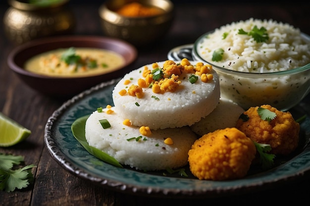
[[[116, 107], [112, 114], [93, 112], [86, 121], [85, 137], [90, 146], [114, 157], [120, 164], [142, 170], [161, 170], [187, 165], [188, 151], [197, 139], [189, 126], [152, 130], [150, 136], [143, 136], [138, 126], [123, 124]], [[99, 120], [106, 119], [111, 125], [103, 129]], [[142, 136], [139, 141], [128, 140]], [[170, 137], [172, 145], [164, 143]]]

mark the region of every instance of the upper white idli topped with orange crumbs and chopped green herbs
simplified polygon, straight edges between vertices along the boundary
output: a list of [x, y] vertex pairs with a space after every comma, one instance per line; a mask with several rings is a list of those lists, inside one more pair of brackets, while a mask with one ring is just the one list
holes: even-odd
[[211, 65], [172, 60], [155, 62], [126, 74], [112, 98], [133, 125], [163, 129], [192, 125], [210, 114], [220, 97]]

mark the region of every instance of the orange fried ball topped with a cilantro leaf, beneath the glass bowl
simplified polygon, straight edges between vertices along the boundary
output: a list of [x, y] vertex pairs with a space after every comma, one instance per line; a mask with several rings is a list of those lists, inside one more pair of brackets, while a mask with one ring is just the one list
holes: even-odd
[[269, 144], [271, 154], [288, 155], [298, 146], [300, 125], [293, 119], [290, 112], [282, 112], [270, 105], [262, 105], [276, 114], [270, 122], [262, 120], [258, 114], [258, 107], [251, 107], [243, 114], [248, 116], [244, 122], [239, 118], [236, 128], [244, 132], [254, 141]]

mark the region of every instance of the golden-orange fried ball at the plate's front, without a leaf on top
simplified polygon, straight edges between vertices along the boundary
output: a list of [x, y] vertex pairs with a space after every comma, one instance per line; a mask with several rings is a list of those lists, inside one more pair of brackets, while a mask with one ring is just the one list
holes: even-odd
[[248, 173], [256, 147], [243, 132], [227, 127], [196, 140], [188, 155], [191, 172], [201, 180], [237, 179]]

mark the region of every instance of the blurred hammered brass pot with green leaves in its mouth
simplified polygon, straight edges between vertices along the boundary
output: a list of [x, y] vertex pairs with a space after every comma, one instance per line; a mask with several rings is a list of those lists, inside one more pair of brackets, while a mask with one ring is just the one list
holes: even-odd
[[6, 37], [21, 44], [41, 37], [71, 34], [75, 28], [75, 16], [66, 6], [68, 1], [38, 6], [8, 0], [10, 7], [3, 16]]

